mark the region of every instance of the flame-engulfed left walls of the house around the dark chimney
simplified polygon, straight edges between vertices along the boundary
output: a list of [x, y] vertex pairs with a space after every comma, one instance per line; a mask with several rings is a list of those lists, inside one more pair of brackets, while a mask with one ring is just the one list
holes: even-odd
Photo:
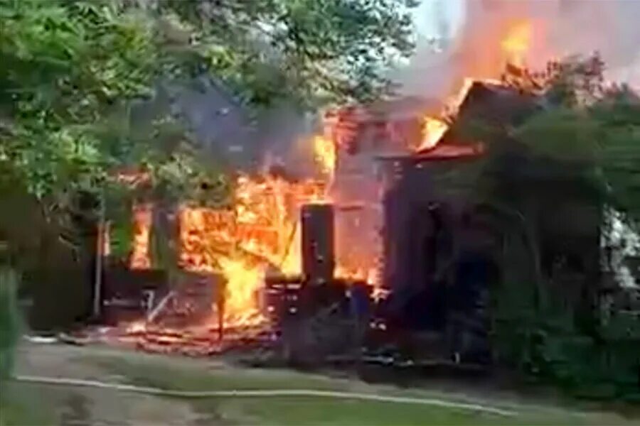
[[[336, 239], [331, 245], [335, 246], [336, 264], [330, 266], [331, 275], [377, 283], [381, 209], [375, 156], [383, 143], [387, 148], [399, 146], [389, 147], [397, 143], [389, 133], [372, 136], [363, 132], [363, 123], [370, 125], [371, 121], [343, 120], [329, 126], [332, 131], [309, 138], [318, 168], [316, 178], [294, 180], [278, 170], [239, 175], [227, 208], [179, 208], [179, 266], [225, 277], [225, 325], [264, 320], [261, 293], [267, 273], [294, 276], [302, 272], [300, 214], [305, 205], [334, 205], [331, 222]], [[379, 123], [377, 127], [385, 129]], [[351, 135], [346, 136], [345, 129]], [[356, 139], [359, 147], [354, 150]], [[132, 268], [151, 265], [151, 209], [149, 205], [134, 209]], [[213, 310], [214, 305], [212, 301]], [[215, 315], [212, 321], [217, 321]]]

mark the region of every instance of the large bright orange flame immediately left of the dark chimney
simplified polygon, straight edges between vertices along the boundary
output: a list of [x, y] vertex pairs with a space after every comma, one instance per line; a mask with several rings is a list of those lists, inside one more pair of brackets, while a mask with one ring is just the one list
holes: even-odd
[[241, 175], [229, 209], [181, 210], [181, 263], [191, 271], [224, 275], [226, 324], [262, 319], [258, 293], [267, 268], [299, 272], [299, 209], [323, 200], [324, 190], [324, 182], [314, 180]]

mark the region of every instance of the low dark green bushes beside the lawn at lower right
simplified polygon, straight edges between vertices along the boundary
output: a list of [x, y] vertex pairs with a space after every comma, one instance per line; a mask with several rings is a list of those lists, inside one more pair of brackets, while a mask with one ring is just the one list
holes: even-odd
[[617, 318], [589, 335], [557, 295], [535, 308], [530, 287], [503, 283], [494, 291], [494, 344], [501, 360], [581, 398], [638, 398], [637, 319]]

